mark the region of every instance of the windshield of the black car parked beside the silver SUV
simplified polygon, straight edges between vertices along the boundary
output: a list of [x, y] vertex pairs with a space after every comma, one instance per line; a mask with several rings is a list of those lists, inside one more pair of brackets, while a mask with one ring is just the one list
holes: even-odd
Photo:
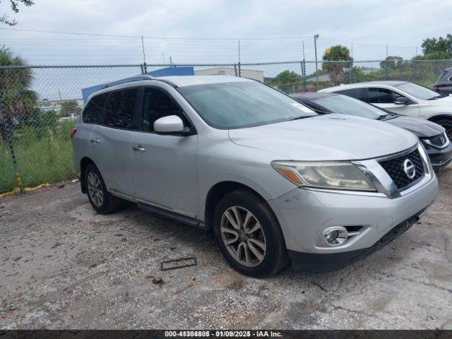
[[369, 105], [361, 100], [353, 99], [347, 95], [319, 97], [312, 101], [334, 113], [355, 115], [357, 117], [369, 119], [379, 119], [380, 117], [387, 115], [382, 109]]

